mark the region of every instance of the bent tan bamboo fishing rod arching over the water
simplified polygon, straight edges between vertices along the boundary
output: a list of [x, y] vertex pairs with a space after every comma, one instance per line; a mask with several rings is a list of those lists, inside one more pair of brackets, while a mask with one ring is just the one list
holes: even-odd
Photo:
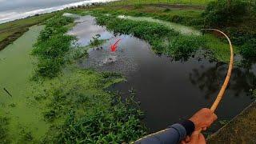
[[225, 81], [222, 84], [222, 88], [221, 88], [221, 90], [219, 90], [218, 95], [217, 95], [214, 103], [210, 107], [210, 110], [212, 112], [214, 112], [217, 109], [219, 102], [222, 101], [223, 95], [224, 95], [225, 90], [226, 90], [226, 86], [230, 82], [230, 76], [231, 76], [232, 69], [233, 69], [233, 64], [234, 64], [234, 52], [233, 52], [233, 46], [232, 46], [232, 43], [230, 41], [230, 38], [225, 33], [223, 33], [221, 30], [217, 30], [217, 29], [202, 29], [202, 30], [214, 30], [214, 31], [217, 31], [220, 34], [224, 35], [226, 37], [227, 41], [230, 44], [230, 64], [229, 64], [229, 69], [227, 70], [226, 78], [225, 78]]

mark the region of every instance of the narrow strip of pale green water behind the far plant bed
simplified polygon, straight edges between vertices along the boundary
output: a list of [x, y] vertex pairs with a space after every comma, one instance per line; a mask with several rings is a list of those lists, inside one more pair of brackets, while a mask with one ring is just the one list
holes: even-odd
[[180, 32], [181, 34], [194, 34], [194, 35], [201, 34], [200, 31], [195, 30], [192, 27], [183, 26], [183, 25], [180, 25], [180, 24], [174, 23], [174, 22], [166, 22], [166, 21], [162, 21], [162, 20], [150, 18], [150, 17], [132, 17], [132, 16], [119, 15], [118, 18], [130, 19], [130, 20], [134, 20], [134, 21], [146, 21], [146, 22], [160, 23], [162, 25], [168, 26], [168, 27]]

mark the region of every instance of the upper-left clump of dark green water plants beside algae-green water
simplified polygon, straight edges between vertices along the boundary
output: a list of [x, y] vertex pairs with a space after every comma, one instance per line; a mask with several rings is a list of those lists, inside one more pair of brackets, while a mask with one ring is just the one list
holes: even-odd
[[32, 54], [38, 56], [36, 75], [53, 78], [66, 63], [65, 55], [71, 48], [74, 37], [66, 35], [66, 31], [74, 18], [56, 15], [46, 22], [46, 27], [39, 35]]

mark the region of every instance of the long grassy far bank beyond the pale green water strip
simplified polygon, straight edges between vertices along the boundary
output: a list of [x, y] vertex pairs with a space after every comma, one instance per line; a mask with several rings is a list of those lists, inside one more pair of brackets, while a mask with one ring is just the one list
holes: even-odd
[[202, 27], [203, 18], [201, 14], [204, 8], [193, 6], [155, 6], [155, 5], [139, 5], [139, 6], [97, 6], [86, 9], [78, 8], [67, 10], [70, 13], [82, 14], [85, 10], [98, 11], [102, 14], [112, 15], [130, 15], [134, 17], [152, 17], [158, 18], [166, 22], [176, 22], [186, 26]]

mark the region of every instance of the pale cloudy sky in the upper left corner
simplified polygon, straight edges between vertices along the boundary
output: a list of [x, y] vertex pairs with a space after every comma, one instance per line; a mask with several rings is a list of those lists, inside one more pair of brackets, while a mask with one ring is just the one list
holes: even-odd
[[0, 0], [0, 23], [91, 2], [113, 0]]

